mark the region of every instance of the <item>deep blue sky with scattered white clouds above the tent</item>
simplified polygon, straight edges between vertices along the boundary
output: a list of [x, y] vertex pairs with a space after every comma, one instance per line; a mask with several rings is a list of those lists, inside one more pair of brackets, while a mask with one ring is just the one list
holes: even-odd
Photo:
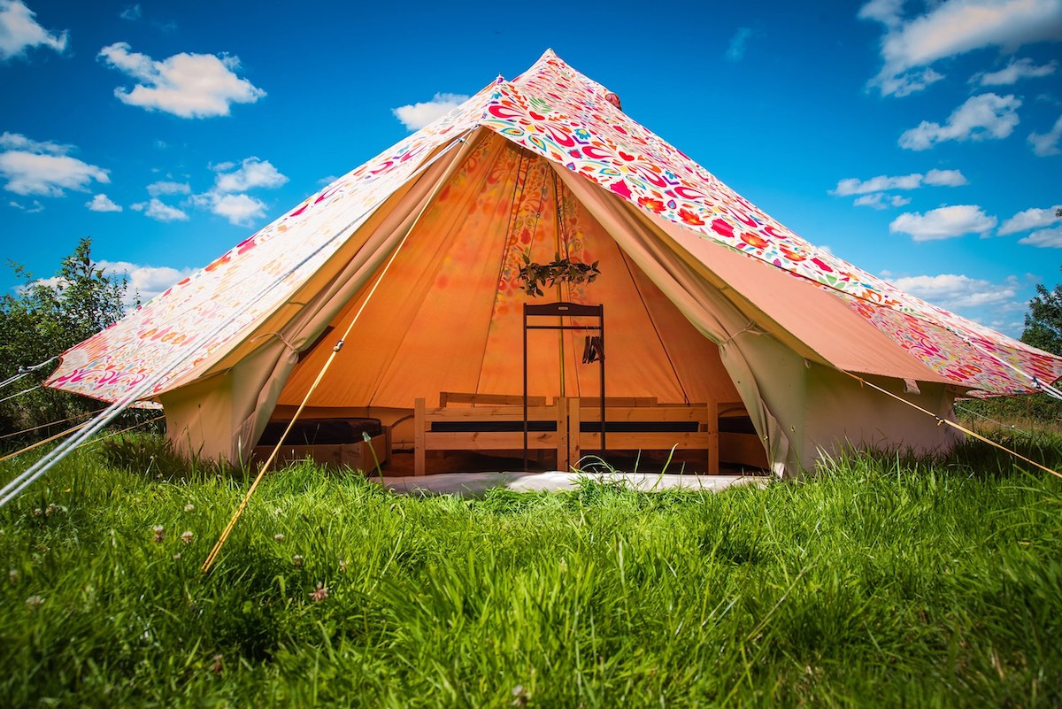
[[0, 0], [3, 257], [90, 236], [150, 297], [552, 48], [804, 238], [1021, 334], [1062, 280], [1062, 0], [813, 7]]

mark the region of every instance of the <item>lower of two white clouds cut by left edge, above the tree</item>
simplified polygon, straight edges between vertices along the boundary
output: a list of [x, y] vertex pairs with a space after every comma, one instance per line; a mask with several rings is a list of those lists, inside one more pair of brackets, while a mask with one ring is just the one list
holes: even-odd
[[96, 180], [107, 184], [107, 171], [67, 155], [71, 145], [37, 142], [17, 133], [0, 135], [0, 176], [16, 194], [63, 196], [66, 190], [87, 192]]

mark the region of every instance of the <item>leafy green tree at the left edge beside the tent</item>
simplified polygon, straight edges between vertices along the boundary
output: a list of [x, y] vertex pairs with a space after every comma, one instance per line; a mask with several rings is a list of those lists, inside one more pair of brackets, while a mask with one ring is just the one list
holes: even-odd
[[[10, 263], [24, 281], [14, 295], [0, 296], [0, 379], [59, 354], [125, 314], [124, 276], [104, 273], [92, 261], [85, 237], [63, 259], [53, 278], [40, 280]], [[0, 390], [0, 398], [42, 382], [55, 368], [42, 367]], [[0, 403], [0, 432], [10, 433], [100, 408], [100, 402], [55, 390], [39, 388]]]

